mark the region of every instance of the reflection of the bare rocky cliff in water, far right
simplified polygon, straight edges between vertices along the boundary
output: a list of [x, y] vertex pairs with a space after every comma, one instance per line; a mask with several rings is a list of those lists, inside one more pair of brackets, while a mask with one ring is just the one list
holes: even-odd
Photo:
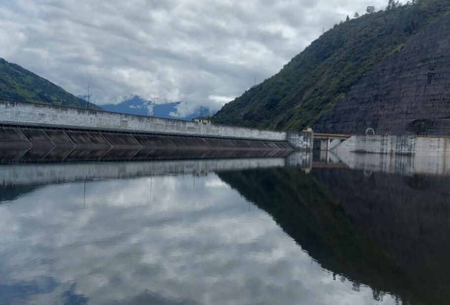
[[350, 170], [313, 175], [341, 202], [355, 226], [396, 259], [414, 282], [417, 299], [423, 297], [423, 304], [449, 302], [448, 178]]

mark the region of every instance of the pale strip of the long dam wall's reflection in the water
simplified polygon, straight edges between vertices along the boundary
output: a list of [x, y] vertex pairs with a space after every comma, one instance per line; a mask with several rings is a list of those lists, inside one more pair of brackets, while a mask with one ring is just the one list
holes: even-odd
[[310, 168], [312, 155], [295, 152], [287, 157], [206, 160], [15, 164], [0, 166], [0, 185], [71, 183], [129, 179], [168, 174], [204, 175], [208, 172], [292, 166]]

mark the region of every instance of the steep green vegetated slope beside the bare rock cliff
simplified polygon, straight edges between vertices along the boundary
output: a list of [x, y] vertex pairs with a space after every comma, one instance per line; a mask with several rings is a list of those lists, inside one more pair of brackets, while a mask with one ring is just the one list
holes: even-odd
[[336, 25], [275, 76], [226, 104], [213, 122], [283, 130], [311, 126], [375, 64], [401, 52], [450, 8], [449, 0], [416, 2]]

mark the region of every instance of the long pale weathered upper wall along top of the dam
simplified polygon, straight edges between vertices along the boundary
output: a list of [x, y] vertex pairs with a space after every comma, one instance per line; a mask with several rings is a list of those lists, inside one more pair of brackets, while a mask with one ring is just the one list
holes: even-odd
[[7, 100], [0, 100], [0, 122], [271, 141], [286, 140], [285, 132]]

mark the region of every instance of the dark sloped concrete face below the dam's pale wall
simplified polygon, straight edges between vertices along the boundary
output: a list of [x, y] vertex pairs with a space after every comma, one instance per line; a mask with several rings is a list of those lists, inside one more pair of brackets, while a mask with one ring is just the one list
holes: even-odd
[[[48, 133], [48, 134], [47, 134]], [[65, 138], [64, 138], [65, 137]], [[53, 142], [52, 139], [56, 141]], [[48, 131], [27, 128], [0, 128], [1, 147], [49, 147], [52, 149], [173, 149], [173, 150], [253, 150], [293, 151], [287, 141], [248, 140], [230, 138], [183, 137], [113, 133], [107, 131]]]

